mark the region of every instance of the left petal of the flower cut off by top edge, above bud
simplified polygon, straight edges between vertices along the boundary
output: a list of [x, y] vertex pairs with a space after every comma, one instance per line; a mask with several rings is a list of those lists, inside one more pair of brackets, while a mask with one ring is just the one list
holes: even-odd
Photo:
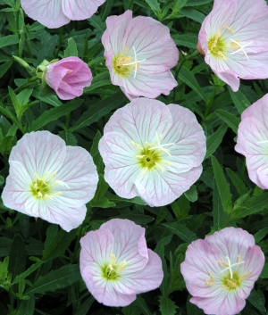
[[63, 13], [63, 0], [21, 0], [27, 15], [49, 29], [56, 29], [70, 22]]

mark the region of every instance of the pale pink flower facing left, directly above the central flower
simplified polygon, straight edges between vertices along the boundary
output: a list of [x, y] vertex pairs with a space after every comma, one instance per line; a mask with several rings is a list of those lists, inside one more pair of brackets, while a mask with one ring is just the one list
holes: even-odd
[[109, 16], [102, 37], [106, 66], [114, 85], [130, 99], [168, 95], [177, 86], [170, 71], [179, 60], [179, 51], [170, 30], [152, 18], [132, 19], [128, 10]]

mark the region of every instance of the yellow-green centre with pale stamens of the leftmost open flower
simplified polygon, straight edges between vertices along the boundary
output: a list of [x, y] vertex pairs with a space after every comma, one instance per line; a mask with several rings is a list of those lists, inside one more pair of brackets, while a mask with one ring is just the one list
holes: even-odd
[[[30, 183], [29, 191], [38, 200], [53, 198], [55, 195], [62, 195], [61, 192], [53, 193], [56, 186], [68, 187], [63, 181], [55, 179], [56, 173], [49, 174], [46, 172], [42, 178], [35, 174], [34, 180]], [[69, 188], [69, 187], [68, 187]]]

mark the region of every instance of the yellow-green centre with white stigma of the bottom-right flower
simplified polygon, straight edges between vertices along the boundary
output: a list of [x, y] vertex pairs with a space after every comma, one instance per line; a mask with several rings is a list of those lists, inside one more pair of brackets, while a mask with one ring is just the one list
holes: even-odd
[[230, 263], [230, 258], [226, 256], [226, 261], [217, 261], [224, 269], [221, 270], [225, 274], [221, 277], [214, 276], [210, 271], [207, 272], [209, 279], [205, 279], [205, 284], [207, 286], [222, 286], [224, 290], [235, 291], [238, 287], [242, 285], [244, 278], [250, 274], [250, 271], [247, 271], [243, 275], [240, 274], [238, 269], [233, 270], [235, 266], [239, 266], [245, 261], [241, 261], [241, 256], [238, 254], [238, 261]]

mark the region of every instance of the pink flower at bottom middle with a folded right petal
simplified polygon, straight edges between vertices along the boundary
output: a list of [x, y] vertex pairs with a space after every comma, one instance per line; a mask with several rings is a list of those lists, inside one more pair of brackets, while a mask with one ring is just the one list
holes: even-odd
[[130, 220], [109, 220], [80, 245], [80, 272], [99, 303], [126, 306], [162, 283], [160, 257], [147, 249], [145, 228]]

